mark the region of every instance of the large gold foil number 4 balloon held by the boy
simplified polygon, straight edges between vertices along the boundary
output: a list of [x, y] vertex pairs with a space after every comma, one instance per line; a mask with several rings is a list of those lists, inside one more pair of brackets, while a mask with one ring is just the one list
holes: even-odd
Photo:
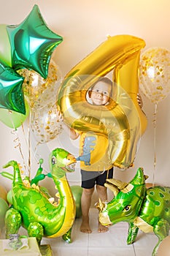
[[[66, 75], [58, 106], [69, 127], [83, 133], [80, 158], [83, 170], [131, 167], [147, 118], [139, 106], [139, 56], [143, 39], [130, 35], [108, 37]], [[113, 70], [112, 96], [107, 105], [91, 105], [90, 86]], [[91, 132], [91, 133], [90, 133]], [[101, 148], [103, 149], [101, 151]]]

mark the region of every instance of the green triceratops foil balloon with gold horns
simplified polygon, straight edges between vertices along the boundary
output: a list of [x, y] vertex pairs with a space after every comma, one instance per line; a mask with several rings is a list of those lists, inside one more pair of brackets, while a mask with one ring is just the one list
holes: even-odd
[[138, 230], [154, 232], [158, 244], [153, 249], [156, 255], [163, 238], [169, 236], [170, 225], [170, 187], [150, 187], [146, 189], [143, 169], [137, 170], [130, 183], [108, 179], [106, 187], [112, 189], [115, 197], [109, 203], [98, 203], [99, 221], [102, 225], [128, 222], [127, 244], [132, 244]]

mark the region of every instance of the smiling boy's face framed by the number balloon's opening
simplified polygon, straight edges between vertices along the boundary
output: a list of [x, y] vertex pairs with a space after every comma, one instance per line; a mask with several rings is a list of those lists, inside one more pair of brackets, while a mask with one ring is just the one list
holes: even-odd
[[90, 94], [90, 99], [92, 100], [94, 105], [106, 105], [109, 101], [111, 91], [112, 86], [110, 84], [99, 81], [93, 87]]

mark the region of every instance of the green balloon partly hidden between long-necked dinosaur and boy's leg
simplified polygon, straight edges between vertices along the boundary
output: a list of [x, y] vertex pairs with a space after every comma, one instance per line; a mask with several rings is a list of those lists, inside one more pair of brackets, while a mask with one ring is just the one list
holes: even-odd
[[82, 207], [81, 207], [81, 197], [82, 197], [82, 187], [80, 186], [71, 186], [72, 194], [76, 203], [76, 218], [82, 216]]

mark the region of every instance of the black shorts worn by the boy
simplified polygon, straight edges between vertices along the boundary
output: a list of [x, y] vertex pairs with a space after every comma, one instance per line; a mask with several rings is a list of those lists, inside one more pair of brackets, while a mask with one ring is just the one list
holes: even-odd
[[106, 183], [107, 178], [113, 177], [113, 167], [109, 170], [101, 172], [81, 170], [81, 176], [82, 187], [84, 189], [92, 189], [95, 186], [95, 184], [104, 187], [104, 183]]

